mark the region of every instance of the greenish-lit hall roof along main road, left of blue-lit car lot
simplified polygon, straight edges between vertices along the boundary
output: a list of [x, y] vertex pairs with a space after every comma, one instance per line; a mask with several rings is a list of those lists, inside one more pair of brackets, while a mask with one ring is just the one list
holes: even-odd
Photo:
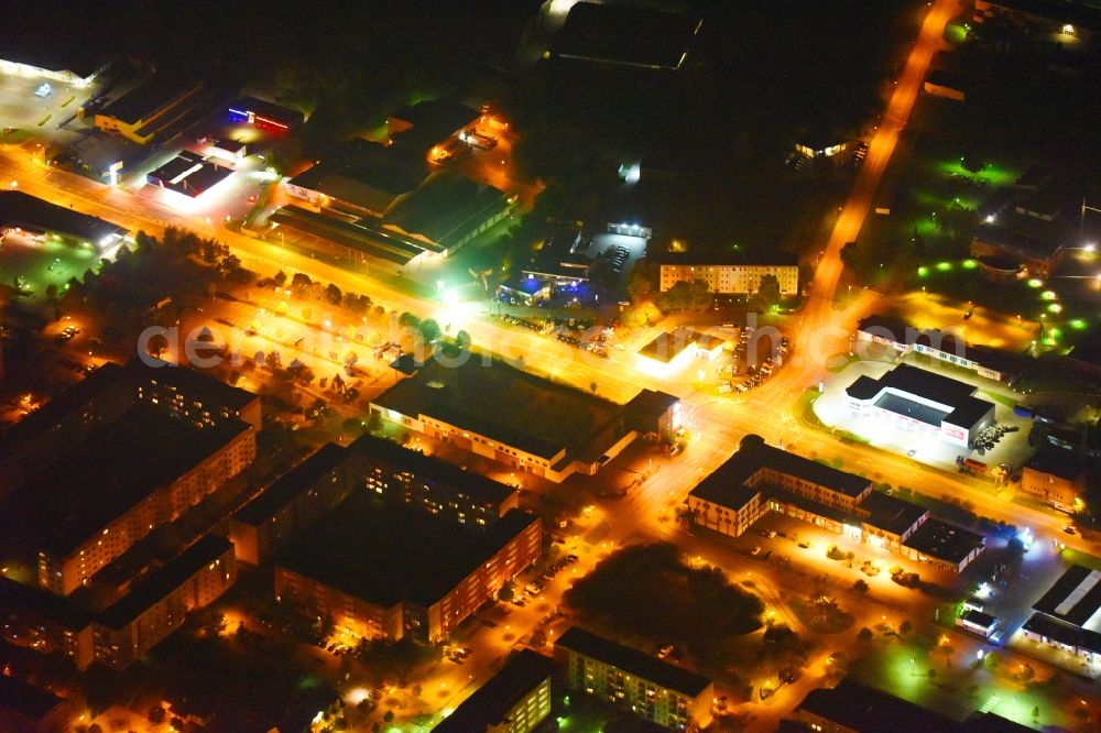
[[388, 223], [450, 247], [509, 208], [509, 197], [447, 171], [433, 174], [386, 210]]

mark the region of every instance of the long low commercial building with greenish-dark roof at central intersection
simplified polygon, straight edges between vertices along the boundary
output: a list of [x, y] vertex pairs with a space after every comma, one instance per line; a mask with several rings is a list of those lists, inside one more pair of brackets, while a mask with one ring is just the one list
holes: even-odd
[[[555, 482], [592, 475], [640, 435], [659, 430], [678, 404], [650, 413], [548, 382], [501, 361], [430, 359], [371, 403], [381, 417], [517, 471]], [[631, 413], [637, 423], [628, 424]]]

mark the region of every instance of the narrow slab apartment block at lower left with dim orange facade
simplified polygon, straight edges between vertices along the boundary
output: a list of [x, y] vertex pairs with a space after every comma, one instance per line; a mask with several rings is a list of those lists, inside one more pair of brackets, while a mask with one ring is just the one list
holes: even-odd
[[235, 582], [232, 543], [205, 536], [98, 614], [96, 659], [126, 669]]

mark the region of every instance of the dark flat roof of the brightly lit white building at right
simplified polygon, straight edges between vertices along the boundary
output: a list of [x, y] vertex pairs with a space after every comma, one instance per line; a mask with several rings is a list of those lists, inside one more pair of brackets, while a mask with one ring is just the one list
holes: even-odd
[[[876, 397], [877, 407], [909, 415], [930, 425], [939, 426], [944, 420], [970, 428], [993, 407], [993, 403], [972, 396], [975, 389], [967, 382], [909, 364], [900, 364], [879, 379], [859, 376], [844, 392], [854, 400]], [[923, 397], [944, 405], [946, 409], [923, 405], [897, 394], [883, 394], [884, 390]]]

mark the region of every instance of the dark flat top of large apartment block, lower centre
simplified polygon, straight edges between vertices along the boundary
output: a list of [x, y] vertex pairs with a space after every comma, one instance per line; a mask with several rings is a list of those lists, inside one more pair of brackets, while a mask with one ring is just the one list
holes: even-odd
[[403, 601], [429, 606], [533, 522], [535, 515], [510, 510], [476, 528], [404, 504], [383, 505], [361, 491], [282, 550], [276, 565], [382, 608]]

